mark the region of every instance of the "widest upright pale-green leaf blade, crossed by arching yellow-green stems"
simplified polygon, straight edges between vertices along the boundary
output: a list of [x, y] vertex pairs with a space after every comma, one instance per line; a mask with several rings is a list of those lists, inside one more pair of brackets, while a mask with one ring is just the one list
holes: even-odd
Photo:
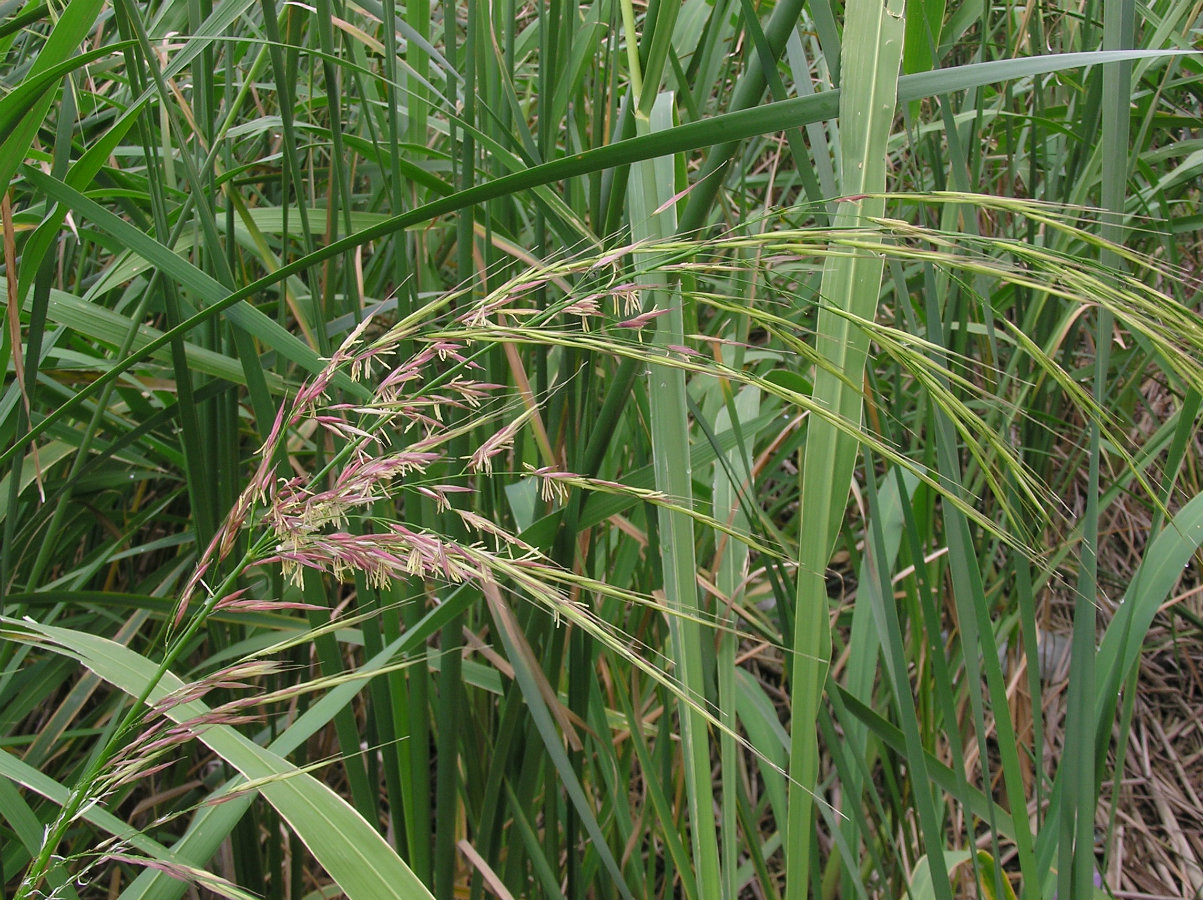
[[[885, 144], [894, 122], [902, 58], [903, 4], [849, 0], [845, 22], [840, 99], [841, 190], [875, 195], [848, 200], [836, 227], [881, 217], [885, 203]], [[816, 371], [814, 402], [859, 425], [869, 336], [841, 315], [871, 320], [881, 291], [883, 260], [865, 253], [829, 257], [823, 267], [816, 350], [831, 367]], [[804, 898], [811, 884], [814, 792], [818, 788], [818, 715], [831, 658], [826, 572], [841, 531], [855, 466], [855, 439], [812, 416], [802, 461], [804, 534], [799, 547], [794, 605], [789, 746], [789, 822], [786, 836], [786, 896]]]

